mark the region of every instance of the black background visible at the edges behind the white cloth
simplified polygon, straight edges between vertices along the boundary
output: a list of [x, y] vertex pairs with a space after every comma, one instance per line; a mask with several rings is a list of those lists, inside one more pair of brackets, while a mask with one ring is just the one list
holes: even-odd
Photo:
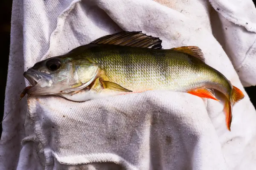
[[[253, 0], [254, 4], [256, 0]], [[0, 47], [1, 47], [1, 66], [0, 66], [0, 120], [3, 119], [3, 106], [6, 88], [6, 77], [9, 60], [10, 31], [11, 31], [12, 0], [0, 1]], [[256, 87], [245, 88], [250, 100], [256, 106]], [[2, 125], [0, 125], [2, 133]]]

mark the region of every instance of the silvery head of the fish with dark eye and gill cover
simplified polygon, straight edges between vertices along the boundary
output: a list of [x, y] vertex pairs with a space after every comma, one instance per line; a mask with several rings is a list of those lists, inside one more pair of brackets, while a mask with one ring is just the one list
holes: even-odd
[[23, 76], [32, 84], [28, 94], [49, 95], [81, 90], [97, 78], [99, 65], [86, 58], [51, 57], [37, 62]]

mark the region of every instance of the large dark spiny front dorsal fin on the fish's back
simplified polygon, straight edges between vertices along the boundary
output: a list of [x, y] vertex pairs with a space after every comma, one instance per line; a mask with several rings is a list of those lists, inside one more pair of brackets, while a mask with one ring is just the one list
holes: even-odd
[[106, 35], [90, 44], [113, 44], [131, 47], [162, 49], [162, 40], [156, 37], [148, 36], [141, 31], [122, 31], [116, 34]]

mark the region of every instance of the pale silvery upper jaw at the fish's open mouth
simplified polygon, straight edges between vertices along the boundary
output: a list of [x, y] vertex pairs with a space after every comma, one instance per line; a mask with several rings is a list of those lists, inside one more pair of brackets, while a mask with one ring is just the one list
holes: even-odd
[[45, 74], [45, 73], [42, 73], [40, 71], [36, 71], [32, 68], [29, 68], [27, 71], [25, 71], [23, 76], [30, 82], [30, 84], [32, 86], [35, 86], [38, 83], [41, 85], [41, 82], [44, 82], [44, 83], [48, 84], [49, 80], [51, 79], [49, 74]]

